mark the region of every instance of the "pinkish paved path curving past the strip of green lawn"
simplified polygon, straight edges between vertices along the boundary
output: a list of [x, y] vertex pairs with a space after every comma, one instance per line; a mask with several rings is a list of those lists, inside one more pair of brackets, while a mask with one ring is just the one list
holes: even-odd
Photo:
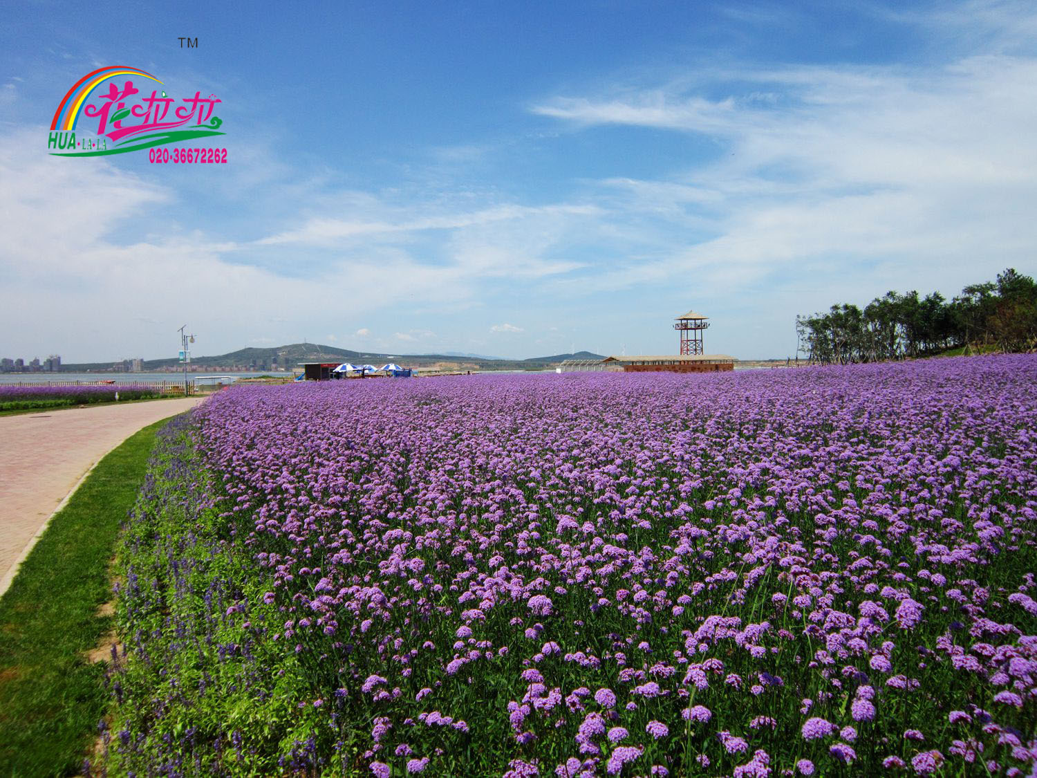
[[200, 397], [0, 417], [0, 594], [48, 520], [106, 453]]

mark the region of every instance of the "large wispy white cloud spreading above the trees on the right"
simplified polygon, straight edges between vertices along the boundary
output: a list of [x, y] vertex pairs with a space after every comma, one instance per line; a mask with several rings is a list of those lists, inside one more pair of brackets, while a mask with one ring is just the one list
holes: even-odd
[[[709, 76], [699, 74], [695, 89]], [[721, 291], [784, 275], [812, 277], [830, 296], [856, 300], [864, 289], [866, 302], [898, 286], [948, 284], [953, 294], [1007, 266], [1032, 266], [1037, 222], [1019, 205], [1037, 199], [1034, 57], [711, 77], [714, 89], [732, 79], [741, 86], [705, 100], [674, 77], [533, 109], [580, 126], [705, 134], [716, 149], [669, 179], [598, 182], [599, 202], [621, 214], [615, 221], [641, 237], [641, 250], [593, 278], [565, 278], [566, 287], [694, 278]]]

